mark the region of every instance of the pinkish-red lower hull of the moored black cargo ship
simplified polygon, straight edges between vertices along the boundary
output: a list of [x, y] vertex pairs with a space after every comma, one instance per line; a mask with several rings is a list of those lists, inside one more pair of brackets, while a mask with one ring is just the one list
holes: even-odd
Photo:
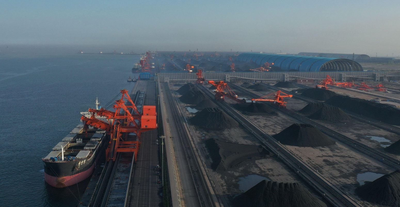
[[74, 185], [92, 175], [95, 165], [96, 164], [94, 163], [92, 167], [90, 167], [88, 170], [85, 170], [84, 172], [65, 177], [54, 177], [44, 173], [44, 180], [46, 180], [46, 183], [53, 187], [67, 187], [70, 185]]

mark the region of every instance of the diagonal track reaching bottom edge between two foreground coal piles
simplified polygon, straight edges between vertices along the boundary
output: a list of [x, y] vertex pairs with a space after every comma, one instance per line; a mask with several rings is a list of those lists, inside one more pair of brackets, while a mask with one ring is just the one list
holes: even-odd
[[[214, 100], [214, 93], [212, 93], [204, 85], [200, 86], [204, 92]], [[232, 106], [225, 102], [216, 102], [221, 106], [225, 112], [230, 114], [235, 120], [237, 120], [246, 130], [251, 132], [262, 144], [268, 148], [271, 152], [278, 155], [281, 160], [294, 172], [297, 172], [307, 183], [309, 183], [320, 195], [324, 197], [328, 202], [334, 206], [349, 206], [359, 207], [358, 203], [351, 197], [345, 195], [338, 188], [334, 187], [332, 183], [318, 175], [317, 172], [312, 170], [308, 164], [302, 162], [299, 158], [292, 155], [284, 146], [278, 143], [272, 136], [266, 134], [260, 127], [253, 124], [250, 120], [244, 117], [240, 112], [234, 110]]]

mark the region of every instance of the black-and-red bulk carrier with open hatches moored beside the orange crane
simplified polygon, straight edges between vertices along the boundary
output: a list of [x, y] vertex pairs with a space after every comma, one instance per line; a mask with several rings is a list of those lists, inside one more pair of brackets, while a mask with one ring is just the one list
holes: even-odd
[[[96, 99], [96, 109], [99, 106]], [[81, 114], [92, 115], [90, 112]], [[107, 121], [104, 116], [96, 118]], [[109, 141], [110, 135], [105, 130], [92, 126], [85, 129], [82, 122], [42, 158], [46, 183], [53, 187], [67, 187], [88, 178], [98, 166]]]

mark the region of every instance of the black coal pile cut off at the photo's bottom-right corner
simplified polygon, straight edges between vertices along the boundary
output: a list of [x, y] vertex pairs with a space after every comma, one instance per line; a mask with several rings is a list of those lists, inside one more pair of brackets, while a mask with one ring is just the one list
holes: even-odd
[[371, 203], [400, 207], [400, 171], [361, 185], [356, 189], [357, 195]]

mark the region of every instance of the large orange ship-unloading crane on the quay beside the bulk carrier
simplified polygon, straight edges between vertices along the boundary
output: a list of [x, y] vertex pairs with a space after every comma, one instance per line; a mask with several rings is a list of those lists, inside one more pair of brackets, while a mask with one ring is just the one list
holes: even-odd
[[[113, 108], [115, 111], [105, 110], [101, 108], [89, 109], [92, 112], [90, 118], [82, 116], [85, 127], [87, 125], [106, 130], [110, 134], [110, 143], [106, 149], [107, 161], [115, 161], [117, 152], [134, 152], [134, 161], [140, 147], [140, 134], [149, 130], [156, 129], [157, 125], [157, 112], [156, 106], [143, 106], [142, 114], [138, 111], [132, 99], [128, 95], [127, 90], [121, 90], [122, 98], [115, 101]], [[128, 105], [125, 104], [124, 99], [127, 100]], [[96, 116], [106, 116], [110, 122], [98, 120]], [[128, 140], [128, 134], [134, 132], [136, 140]]]

